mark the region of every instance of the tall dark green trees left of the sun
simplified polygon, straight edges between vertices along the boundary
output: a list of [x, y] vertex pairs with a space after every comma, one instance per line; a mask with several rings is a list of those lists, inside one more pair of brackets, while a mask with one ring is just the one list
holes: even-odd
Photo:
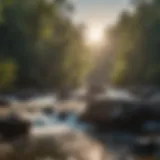
[[59, 89], [84, 80], [87, 48], [68, 1], [8, 0], [0, 10], [0, 56], [16, 60], [16, 87]]

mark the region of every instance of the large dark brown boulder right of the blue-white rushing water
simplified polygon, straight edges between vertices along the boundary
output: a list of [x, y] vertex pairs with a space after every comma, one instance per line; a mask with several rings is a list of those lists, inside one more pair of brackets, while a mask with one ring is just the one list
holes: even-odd
[[80, 119], [102, 130], [143, 132], [146, 121], [160, 117], [150, 103], [103, 99], [89, 103]]

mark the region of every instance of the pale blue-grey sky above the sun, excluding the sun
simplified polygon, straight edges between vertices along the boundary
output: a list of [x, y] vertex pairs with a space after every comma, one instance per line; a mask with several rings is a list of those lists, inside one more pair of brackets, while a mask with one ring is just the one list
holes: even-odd
[[104, 27], [113, 24], [130, 0], [72, 0], [75, 4], [74, 20], [88, 26]]

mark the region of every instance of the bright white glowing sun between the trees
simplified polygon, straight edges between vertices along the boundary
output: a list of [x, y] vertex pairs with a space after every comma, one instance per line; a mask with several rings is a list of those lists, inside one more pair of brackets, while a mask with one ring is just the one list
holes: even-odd
[[86, 31], [86, 41], [89, 44], [100, 44], [103, 42], [103, 29], [98, 26], [88, 27]]

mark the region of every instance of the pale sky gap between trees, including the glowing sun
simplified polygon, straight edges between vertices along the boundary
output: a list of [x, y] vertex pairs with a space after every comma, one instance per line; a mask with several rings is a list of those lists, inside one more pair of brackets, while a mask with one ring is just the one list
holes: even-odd
[[103, 42], [104, 31], [113, 25], [119, 13], [130, 8], [131, 0], [70, 0], [75, 6], [73, 19], [86, 27], [87, 43]]

